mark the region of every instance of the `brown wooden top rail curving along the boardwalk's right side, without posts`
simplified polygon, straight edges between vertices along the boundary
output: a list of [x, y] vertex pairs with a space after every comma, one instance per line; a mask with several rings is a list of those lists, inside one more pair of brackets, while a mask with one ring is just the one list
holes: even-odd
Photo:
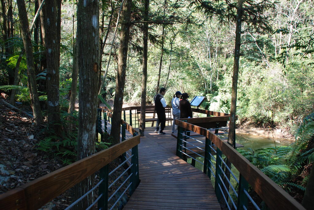
[[[198, 118], [196, 118], [198, 119]], [[284, 189], [266, 176], [255, 165], [251, 164], [244, 156], [232, 146], [224, 142], [219, 136], [203, 127], [193, 125], [181, 120], [175, 120], [175, 124], [187, 130], [199, 133], [212, 141], [217, 148], [231, 161], [240, 174], [252, 186], [254, 191], [263, 199], [271, 209], [301, 209], [302, 205], [291, 197]]]

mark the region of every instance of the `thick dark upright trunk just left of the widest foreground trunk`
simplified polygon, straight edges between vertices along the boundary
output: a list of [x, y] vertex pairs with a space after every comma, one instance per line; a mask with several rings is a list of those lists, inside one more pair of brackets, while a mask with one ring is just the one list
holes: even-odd
[[56, 134], [61, 132], [59, 105], [59, 64], [61, 33], [61, 0], [46, 1], [43, 6], [42, 28], [45, 31], [44, 47], [46, 48], [47, 73], [47, 116], [49, 130]]

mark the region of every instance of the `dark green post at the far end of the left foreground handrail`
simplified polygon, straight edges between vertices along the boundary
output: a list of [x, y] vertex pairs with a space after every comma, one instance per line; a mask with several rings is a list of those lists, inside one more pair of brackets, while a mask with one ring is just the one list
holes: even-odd
[[[134, 133], [133, 136], [137, 136], [138, 133]], [[138, 145], [132, 148], [132, 158], [131, 158], [131, 173], [132, 176], [130, 178], [130, 182], [132, 182], [130, 186], [130, 196], [133, 194], [135, 191], [136, 187], [139, 184], [139, 170], [138, 170]]]

